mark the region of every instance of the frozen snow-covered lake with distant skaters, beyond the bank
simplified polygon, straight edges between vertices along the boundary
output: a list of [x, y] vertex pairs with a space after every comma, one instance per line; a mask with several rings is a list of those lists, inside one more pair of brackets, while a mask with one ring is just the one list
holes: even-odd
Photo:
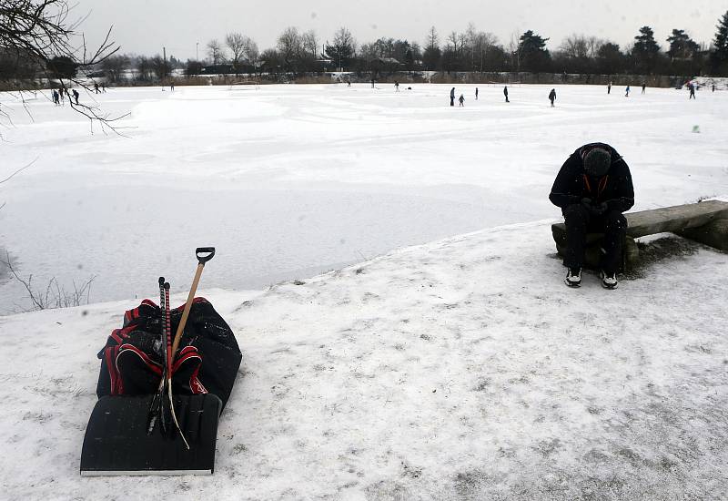
[[[402, 86], [404, 87], [404, 86]], [[217, 246], [205, 285], [259, 289], [402, 246], [557, 219], [547, 195], [582, 143], [632, 166], [635, 210], [728, 192], [728, 93], [633, 87], [390, 85], [159, 87], [95, 96], [126, 137], [91, 134], [68, 106], [7, 94], [0, 251], [43, 288], [95, 276], [92, 302], [185, 291], [193, 250]], [[88, 102], [92, 96], [82, 94]], [[32, 120], [31, 120], [32, 117]], [[6, 124], [6, 121], [4, 122]], [[698, 126], [700, 133], [693, 133]], [[5, 252], [2, 252], [5, 255]], [[28, 309], [0, 270], [0, 314]]]

